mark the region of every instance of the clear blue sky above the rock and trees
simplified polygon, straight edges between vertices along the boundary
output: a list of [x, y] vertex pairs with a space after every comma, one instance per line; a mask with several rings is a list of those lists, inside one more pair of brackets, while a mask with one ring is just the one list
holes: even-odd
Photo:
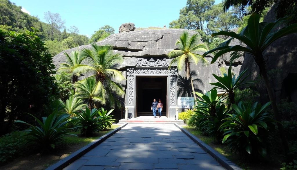
[[[30, 15], [45, 21], [44, 13], [59, 13], [66, 21], [66, 28], [75, 25], [80, 34], [91, 36], [101, 26], [110, 25], [118, 33], [123, 23], [134, 23], [135, 27], [169, 27], [178, 19], [179, 10], [187, 0], [10, 0]], [[216, 4], [221, 0], [216, 0]]]

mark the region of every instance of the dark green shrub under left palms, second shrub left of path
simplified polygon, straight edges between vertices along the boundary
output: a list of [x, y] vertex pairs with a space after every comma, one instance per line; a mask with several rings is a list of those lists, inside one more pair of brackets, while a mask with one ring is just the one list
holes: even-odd
[[87, 136], [102, 130], [102, 123], [99, 120], [97, 109], [90, 110], [86, 107], [86, 111], [82, 109], [80, 111], [81, 113], [73, 112], [75, 114], [75, 117], [72, 117], [75, 122], [75, 131], [80, 131], [81, 135]]

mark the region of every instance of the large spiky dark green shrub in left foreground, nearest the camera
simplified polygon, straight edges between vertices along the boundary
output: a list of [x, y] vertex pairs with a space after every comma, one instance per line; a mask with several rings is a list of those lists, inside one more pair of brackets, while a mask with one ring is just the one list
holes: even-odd
[[40, 127], [19, 120], [15, 122], [31, 126], [29, 129], [25, 130], [28, 132], [27, 135], [32, 137], [29, 138], [29, 141], [35, 142], [37, 145], [41, 146], [42, 151], [55, 149], [55, 146], [64, 140], [65, 135], [73, 135], [69, 134], [72, 129], [66, 127], [66, 124], [68, 123], [66, 120], [70, 116], [68, 114], [62, 114], [57, 117], [58, 111], [55, 110], [48, 117], [43, 117], [42, 121], [31, 114], [29, 115], [37, 121]]

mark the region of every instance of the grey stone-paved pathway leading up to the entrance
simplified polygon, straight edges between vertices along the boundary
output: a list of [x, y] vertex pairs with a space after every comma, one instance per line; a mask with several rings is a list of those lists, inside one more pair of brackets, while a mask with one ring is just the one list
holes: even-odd
[[64, 170], [225, 169], [173, 124], [128, 124]]

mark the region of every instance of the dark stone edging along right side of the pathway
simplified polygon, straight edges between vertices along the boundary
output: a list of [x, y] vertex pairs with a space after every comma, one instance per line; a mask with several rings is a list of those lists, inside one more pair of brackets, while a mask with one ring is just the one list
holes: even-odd
[[183, 127], [180, 125], [174, 123], [178, 129], [180, 129], [182, 132], [184, 132], [189, 138], [191, 138], [193, 141], [195, 141], [201, 148], [203, 148], [209, 155], [214, 157], [224, 168], [228, 170], [242, 170], [240, 167], [238, 167], [235, 163], [232, 161], [228, 160], [226, 157], [224, 157], [222, 154], [205, 144], [203, 141], [198, 139], [196, 136], [194, 136], [192, 133], [188, 132], [185, 130]]

